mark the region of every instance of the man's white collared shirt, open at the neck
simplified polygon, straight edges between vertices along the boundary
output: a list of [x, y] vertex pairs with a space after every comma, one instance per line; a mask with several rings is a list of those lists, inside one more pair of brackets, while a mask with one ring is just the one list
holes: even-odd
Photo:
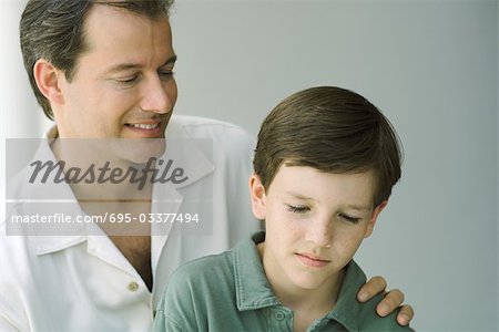
[[[7, 205], [1, 193], [0, 331], [147, 331], [181, 262], [226, 250], [258, 229], [247, 189], [253, 139], [232, 124], [173, 116], [166, 141], [177, 138], [207, 138], [213, 145], [177, 151], [187, 159], [195, 156], [196, 168], [175, 190], [155, 186], [152, 212], [198, 212], [213, 219], [198, 232], [179, 224], [162, 225], [161, 235], [152, 230], [152, 292], [106, 236], [7, 236], [6, 219], [26, 207], [22, 201]], [[166, 154], [173, 149], [167, 146]], [[70, 187], [63, 184], [61, 190]], [[165, 208], [164, 201], [172, 205]]]

